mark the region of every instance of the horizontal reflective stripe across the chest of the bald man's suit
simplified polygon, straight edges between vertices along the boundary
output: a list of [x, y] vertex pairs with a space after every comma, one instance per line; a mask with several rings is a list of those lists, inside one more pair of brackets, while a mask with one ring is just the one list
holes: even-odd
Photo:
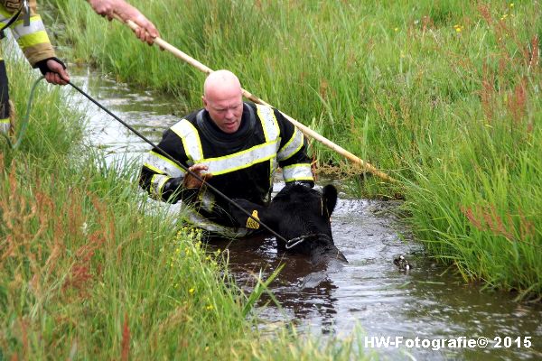
[[209, 158], [203, 161], [213, 175], [238, 171], [248, 168], [259, 162], [266, 162], [276, 157], [276, 141], [253, 146], [250, 149], [225, 155], [218, 158]]

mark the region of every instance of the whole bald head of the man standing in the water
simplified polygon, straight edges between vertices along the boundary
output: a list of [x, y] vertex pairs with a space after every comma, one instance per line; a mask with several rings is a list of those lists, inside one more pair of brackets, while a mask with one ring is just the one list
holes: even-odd
[[205, 79], [203, 105], [224, 133], [238, 131], [243, 116], [243, 94], [239, 79], [229, 70], [217, 70]]

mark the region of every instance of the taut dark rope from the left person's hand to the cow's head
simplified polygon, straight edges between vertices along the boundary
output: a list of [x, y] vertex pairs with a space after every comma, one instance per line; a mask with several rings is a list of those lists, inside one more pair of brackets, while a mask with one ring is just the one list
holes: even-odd
[[157, 145], [155, 145], [153, 142], [151, 142], [149, 139], [147, 139], [145, 137], [145, 135], [139, 133], [137, 130], [135, 130], [131, 125], [128, 125], [126, 124], [125, 121], [123, 121], [122, 119], [120, 119], [118, 116], [114, 115], [113, 113], [111, 113], [105, 106], [102, 106], [100, 103], [98, 103], [97, 100], [95, 100], [93, 97], [90, 97], [89, 94], [87, 94], [85, 91], [83, 91], [81, 88], [79, 88], [78, 86], [76, 86], [75, 84], [73, 84], [71, 81], [68, 82], [68, 84], [70, 84], [71, 87], [75, 88], [77, 91], [79, 91], [79, 93], [81, 93], [83, 96], [87, 97], [92, 103], [96, 104], [97, 106], [99, 106], [103, 111], [105, 111], [109, 116], [113, 116], [115, 119], [117, 119], [118, 122], [120, 122], [120, 124], [126, 126], [126, 128], [128, 128], [132, 133], [134, 133], [135, 135], [137, 135], [138, 137], [140, 137], [141, 139], [143, 139], [146, 143], [149, 143], [153, 148], [159, 150], [160, 152], [162, 152], [164, 154], [164, 156], [169, 159], [170, 161], [174, 162], [175, 164], [179, 165], [184, 171], [188, 172], [190, 175], [192, 175], [192, 177], [194, 177], [195, 179], [197, 180], [200, 180], [202, 183], [205, 183], [207, 185], [207, 187], [212, 190], [213, 192], [215, 192], [216, 194], [218, 194], [220, 197], [222, 197], [223, 199], [225, 199], [226, 201], [228, 201], [230, 204], [233, 204], [236, 208], [238, 208], [240, 211], [242, 211], [245, 215], [248, 216], [248, 218], [252, 218], [254, 219], [260, 226], [266, 228], [266, 230], [268, 230], [269, 232], [271, 232], [274, 236], [276, 236], [277, 238], [285, 241], [286, 243], [288, 241], [286, 241], [285, 237], [283, 236], [280, 236], [278, 233], [276, 233], [273, 229], [271, 229], [270, 227], [267, 227], [266, 224], [264, 224], [262, 221], [260, 221], [259, 219], [253, 217], [250, 213], [248, 213], [247, 210], [245, 210], [245, 208], [242, 208], [241, 206], [238, 205], [238, 203], [236, 203], [233, 199], [230, 199], [227, 195], [225, 195], [224, 193], [222, 193], [220, 190], [217, 190], [215, 187], [211, 186], [208, 182], [206, 182], [205, 180], [203, 180], [198, 174], [194, 173], [193, 171], [189, 170], [186, 166], [182, 165], [180, 162], [178, 162], [176, 159], [174, 159], [171, 155], [169, 155], [168, 153], [166, 153], [163, 149], [161, 149], [160, 147], [158, 147]]

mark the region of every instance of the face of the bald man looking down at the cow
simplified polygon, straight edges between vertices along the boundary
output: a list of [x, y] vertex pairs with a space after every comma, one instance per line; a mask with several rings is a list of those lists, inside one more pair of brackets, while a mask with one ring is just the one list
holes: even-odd
[[243, 97], [240, 92], [221, 92], [203, 97], [205, 109], [220, 130], [227, 134], [238, 131], [243, 116]]

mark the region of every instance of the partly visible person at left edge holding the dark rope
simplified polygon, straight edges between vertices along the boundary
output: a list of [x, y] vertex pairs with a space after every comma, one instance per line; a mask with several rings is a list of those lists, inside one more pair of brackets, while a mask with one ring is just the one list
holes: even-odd
[[[5, 37], [8, 28], [34, 69], [40, 69], [51, 84], [67, 84], [70, 76], [52, 49], [42, 18], [36, 14], [35, 0], [0, 0], [0, 37]], [[5, 62], [0, 54], [0, 133], [13, 129], [13, 120]]]

